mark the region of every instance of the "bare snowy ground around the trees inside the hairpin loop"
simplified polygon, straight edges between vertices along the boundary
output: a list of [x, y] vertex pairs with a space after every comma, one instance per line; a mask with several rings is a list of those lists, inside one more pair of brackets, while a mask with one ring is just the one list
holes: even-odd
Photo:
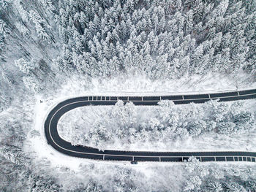
[[[246, 100], [245, 107], [255, 111], [256, 100]], [[154, 107], [136, 107], [141, 121], [154, 118], [151, 116]], [[254, 109], [254, 110], [253, 110]], [[80, 107], [78, 109], [67, 112], [61, 117], [58, 125], [60, 136], [71, 141], [71, 135], [86, 134], [86, 127], [89, 129], [97, 121], [98, 118], [104, 117], [105, 112], [110, 110], [110, 107]], [[72, 132], [75, 131], [75, 134]], [[79, 144], [84, 145], [84, 137], [80, 137]], [[229, 151], [229, 150], [254, 150], [256, 146], [256, 130], [251, 130], [244, 134], [233, 136], [225, 136], [207, 132], [198, 137], [189, 137], [185, 140], [177, 140], [173, 142], [135, 142], [132, 145], [124, 145], [118, 139], [110, 142], [105, 142], [108, 150], [146, 150], [146, 151]], [[95, 147], [95, 146], [91, 146]]]

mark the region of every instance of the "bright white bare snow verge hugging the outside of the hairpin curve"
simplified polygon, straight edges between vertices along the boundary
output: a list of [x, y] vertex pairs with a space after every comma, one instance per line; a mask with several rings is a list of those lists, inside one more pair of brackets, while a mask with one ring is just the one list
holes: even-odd
[[[70, 157], [68, 155], [59, 153], [58, 151], [53, 149], [53, 147], [47, 144], [44, 132], [45, 118], [47, 117], [48, 112], [50, 112], [50, 110], [55, 105], [49, 107], [49, 103], [40, 103], [40, 96], [37, 97], [37, 104], [34, 107], [34, 130], [39, 132], [39, 136], [33, 136], [32, 134], [29, 134], [26, 140], [26, 145], [24, 147], [24, 150], [27, 153], [32, 153], [34, 155], [34, 161], [40, 162], [42, 161], [42, 159], [46, 158], [48, 161], [50, 161], [50, 164], [52, 164], [52, 166], [59, 168], [63, 166], [69, 167], [69, 169], [71, 169], [74, 172], [79, 172], [81, 166], [86, 166], [95, 163], [102, 166], [128, 166], [130, 168], [136, 168], [138, 170], [140, 170], [140, 168], [141, 170], [143, 170], [145, 166], [151, 166], [150, 162], [140, 162], [139, 165], [132, 165], [130, 164], [130, 162], [127, 161], [97, 161], [86, 158]], [[62, 100], [59, 99], [59, 101], [56, 101], [56, 104], [58, 104], [60, 101]], [[52, 102], [50, 101], [50, 103]]]

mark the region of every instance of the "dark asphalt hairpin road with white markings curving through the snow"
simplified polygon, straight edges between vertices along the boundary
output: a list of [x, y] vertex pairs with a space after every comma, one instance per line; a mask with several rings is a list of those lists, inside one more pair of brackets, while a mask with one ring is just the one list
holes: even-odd
[[66, 155], [91, 158], [97, 160], [115, 161], [184, 161], [189, 156], [195, 156], [200, 161], [252, 161], [256, 160], [256, 153], [246, 151], [223, 151], [223, 152], [146, 152], [146, 151], [120, 151], [105, 150], [96, 148], [72, 146], [70, 142], [59, 137], [57, 124], [65, 112], [77, 107], [88, 105], [114, 105], [118, 99], [125, 103], [132, 101], [135, 105], [157, 105], [161, 100], [172, 100], [175, 104], [203, 103], [211, 99], [219, 101], [235, 101], [240, 99], [255, 99], [256, 89], [246, 91], [234, 91], [225, 93], [209, 93], [197, 95], [180, 96], [84, 96], [62, 101], [48, 114], [45, 120], [45, 136], [48, 144]]

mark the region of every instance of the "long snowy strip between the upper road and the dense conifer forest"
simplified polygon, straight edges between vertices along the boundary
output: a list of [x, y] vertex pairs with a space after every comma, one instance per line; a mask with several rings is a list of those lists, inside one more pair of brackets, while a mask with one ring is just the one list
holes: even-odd
[[42, 99], [66, 99], [74, 96], [152, 96], [181, 93], [215, 93], [256, 88], [256, 82], [244, 72], [236, 76], [209, 73], [206, 76], [193, 75], [179, 80], [150, 80], [144, 75], [132, 77], [120, 75], [112, 78], [70, 77], [56, 93], [42, 96]]

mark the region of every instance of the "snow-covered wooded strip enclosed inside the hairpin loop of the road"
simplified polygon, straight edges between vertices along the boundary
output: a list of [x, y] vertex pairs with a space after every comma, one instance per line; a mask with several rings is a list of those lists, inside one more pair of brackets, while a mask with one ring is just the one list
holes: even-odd
[[[214, 100], [176, 106], [173, 101], [163, 100], [159, 107], [135, 107], [132, 102], [124, 105], [119, 100], [115, 107], [82, 107], [68, 112], [61, 117], [58, 131], [72, 145], [100, 150], [187, 151], [191, 148], [185, 147], [186, 141], [198, 142], [198, 137], [206, 140], [204, 147], [208, 145], [206, 136], [209, 135], [214, 137], [212, 143], [219, 142], [219, 135], [238, 143], [248, 137], [247, 134], [256, 137], [255, 112], [256, 103], [252, 101], [222, 103]], [[230, 150], [232, 145], [217, 148], [210, 145], [208, 150]]]

